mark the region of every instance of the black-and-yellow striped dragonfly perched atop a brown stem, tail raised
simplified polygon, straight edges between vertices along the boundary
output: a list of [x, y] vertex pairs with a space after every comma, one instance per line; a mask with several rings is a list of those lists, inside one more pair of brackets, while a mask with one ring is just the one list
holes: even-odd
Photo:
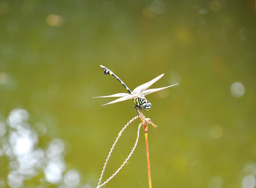
[[[172, 86], [176, 86], [177, 84], [173, 84], [167, 87], [162, 87], [162, 88], [156, 88], [156, 89], [147, 89], [149, 88], [152, 84], [154, 84], [157, 80], [159, 80], [162, 76], [164, 76], [164, 74], [161, 74], [159, 76], [157, 76], [156, 78], [154, 78], [153, 80], [148, 81], [147, 83], [136, 87], [133, 91], [131, 91], [124, 83], [123, 81], [117, 76], [115, 75], [110, 69], [108, 69], [107, 67], [104, 67], [102, 65], [100, 65], [100, 67], [103, 69], [104, 74], [105, 75], [112, 75], [113, 77], [115, 77], [118, 81], [120, 81], [120, 83], [125, 87], [125, 89], [130, 93], [116, 93], [114, 95], [109, 95], [109, 96], [101, 96], [101, 97], [93, 97], [93, 98], [106, 98], [106, 97], [121, 97], [119, 99], [113, 100], [111, 102], [108, 102], [106, 104], [102, 104], [102, 105], [107, 105], [107, 104], [113, 104], [116, 102], [121, 102], [121, 101], [125, 101], [128, 99], [133, 99], [135, 106], [134, 108], [137, 111], [137, 114], [141, 114], [142, 110], [144, 111], [148, 111], [151, 107], [152, 104], [150, 102], [148, 102], [148, 100], [145, 98], [145, 95], [148, 95], [150, 93], [156, 92], [156, 91], [160, 91], [162, 89], [166, 89]], [[146, 90], [147, 89], [147, 90]]]

